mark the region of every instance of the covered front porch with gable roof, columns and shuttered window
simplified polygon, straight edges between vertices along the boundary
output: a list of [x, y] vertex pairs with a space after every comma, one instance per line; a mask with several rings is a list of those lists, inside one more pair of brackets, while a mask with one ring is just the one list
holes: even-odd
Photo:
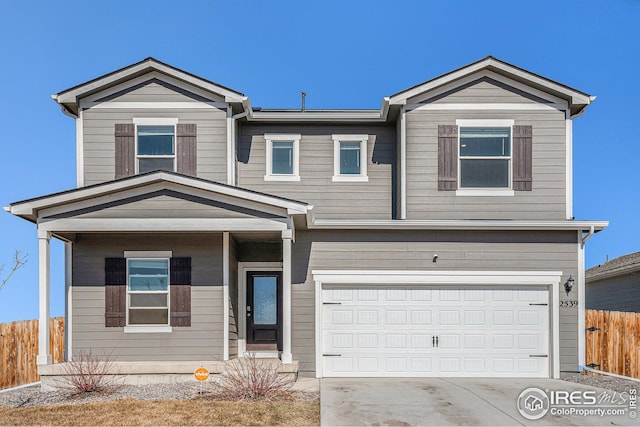
[[[13, 214], [37, 224], [43, 324], [49, 318], [50, 241], [65, 242], [65, 360], [87, 348], [112, 349], [133, 381], [192, 377], [194, 366], [203, 363], [221, 372], [225, 361], [248, 352], [279, 358], [283, 369], [297, 371], [291, 351], [291, 246], [296, 223], [304, 223], [310, 210], [302, 202], [168, 172], [11, 206]], [[141, 303], [139, 289], [131, 286], [132, 271], [150, 268], [143, 265], [149, 260], [164, 260], [165, 271], [164, 288], [153, 288], [162, 280], [151, 288], [164, 292], [152, 298], [154, 318], [160, 319], [154, 324], [139, 320], [150, 299]], [[276, 316], [275, 330], [254, 328], [260, 333], [250, 335], [257, 309], [250, 277], [256, 273], [276, 277], [277, 291], [267, 295], [275, 298], [277, 312], [263, 313]], [[149, 319], [151, 312], [144, 313]], [[38, 341], [41, 375], [59, 375], [62, 367], [51, 365], [47, 328]]]

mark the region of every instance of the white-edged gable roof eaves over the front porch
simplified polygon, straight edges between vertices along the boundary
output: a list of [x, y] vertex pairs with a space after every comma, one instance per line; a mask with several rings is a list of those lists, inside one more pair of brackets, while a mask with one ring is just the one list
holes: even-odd
[[[43, 209], [71, 206], [78, 202], [86, 202], [89, 205], [98, 204], [101, 203], [99, 202], [101, 197], [108, 196], [114, 199], [117, 198], [115, 196], [117, 194], [124, 194], [136, 189], [147, 191], [147, 189], [151, 188], [154, 184], [157, 184], [154, 187], [156, 190], [156, 187], [163, 189], [178, 188], [184, 193], [193, 193], [194, 195], [206, 194], [210, 197], [219, 195], [226, 199], [231, 198], [239, 202], [246, 202], [257, 210], [275, 208], [283, 210], [288, 214], [307, 214], [307, 212], [312, 209], [312, 206], [305, 202], [167, 171], [154, 171], [106, 183], [22, 200], [12, 203], [5, 209], [14, 215], [36, 222], [38, 220], [38, 212]], [[260, 208], [261, 206], [262, 208]]]

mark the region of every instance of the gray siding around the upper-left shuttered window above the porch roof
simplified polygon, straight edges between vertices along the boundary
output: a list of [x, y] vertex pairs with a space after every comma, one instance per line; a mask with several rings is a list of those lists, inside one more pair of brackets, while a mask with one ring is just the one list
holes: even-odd
[[198, 176], [212, 181], [227, 182], [227, 122], [225, 111], [217, 108], [173, 111], [167, 109], [124, 110], [104, 108], [83, 111], [85, 185], [98, 184], [114, 179], [114, 127], [116, 123], [132, 123], [134, 117], [177, 117], [182, 123], [195, 123], [198, 130]]

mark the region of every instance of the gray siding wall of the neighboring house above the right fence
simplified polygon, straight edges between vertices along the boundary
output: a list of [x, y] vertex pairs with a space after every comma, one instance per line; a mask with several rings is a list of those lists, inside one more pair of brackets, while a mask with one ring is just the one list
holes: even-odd
[[593, 310], [640, 313], [640, 272], [587, 281], [586, 306]]

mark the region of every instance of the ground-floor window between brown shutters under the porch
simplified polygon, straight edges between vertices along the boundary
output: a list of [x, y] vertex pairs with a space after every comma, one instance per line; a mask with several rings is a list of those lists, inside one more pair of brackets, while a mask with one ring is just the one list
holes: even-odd
[[127, 258], [127, 325], [169, 325], [169, 258]]

